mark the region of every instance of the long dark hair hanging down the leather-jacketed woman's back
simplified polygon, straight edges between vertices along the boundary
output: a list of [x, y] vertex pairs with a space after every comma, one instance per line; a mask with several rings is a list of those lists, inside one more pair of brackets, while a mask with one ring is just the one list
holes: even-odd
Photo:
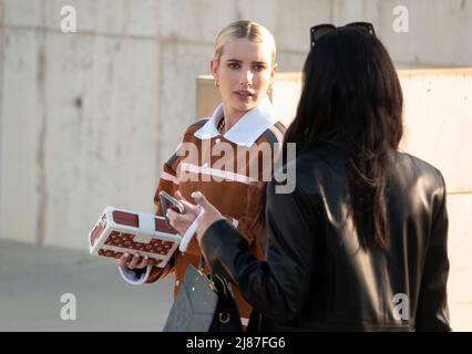
[[345, 150], [363, 248], [384, 248], [390, 238], [386, 177], [389, 152], [402, 136], [402, 102], [393, 63], [372, 34], [339, 28], [325, 34], [306, 60], [297, 115], [284, 146], [296, 143], [297, 155], [324, 144]]

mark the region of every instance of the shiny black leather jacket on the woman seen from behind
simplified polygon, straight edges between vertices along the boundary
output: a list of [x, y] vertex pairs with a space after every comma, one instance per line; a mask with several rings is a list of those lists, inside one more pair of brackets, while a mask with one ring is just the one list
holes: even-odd
[[359, 247], [347, 159], [334, 147], [297, 158], [294, 192], [276, 194], [268, 184], [266, 261], [225, 220], [205, 232], [213, 271], [238, 285], [261, 314], [263, 331], [450, 330], [444, 180], [411, 155], [392, 156], [384, 250]]

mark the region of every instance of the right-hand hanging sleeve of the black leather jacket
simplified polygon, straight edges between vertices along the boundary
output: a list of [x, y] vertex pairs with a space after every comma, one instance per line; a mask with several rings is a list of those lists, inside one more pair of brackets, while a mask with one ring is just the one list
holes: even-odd
[[442, 185], [442, 191], [439, 196], [435, 196], [435, 205], [439, 207], [435, 208], [437, 211], [433, 216], [424, 261], [415, 319], [417, 331], [451, 331], [447, 296], [449, 275], [448, 211], [443, 179]]

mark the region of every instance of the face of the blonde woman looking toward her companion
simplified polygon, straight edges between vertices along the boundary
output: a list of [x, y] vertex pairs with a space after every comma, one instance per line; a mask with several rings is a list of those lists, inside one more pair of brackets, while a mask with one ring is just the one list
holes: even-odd
[[275, 67], [271, 48], [246, 38], [227, 42], [219, 62], [212, 61], [223, 104], [232, 113], [244, 113], [257, 106], [267, 95]]

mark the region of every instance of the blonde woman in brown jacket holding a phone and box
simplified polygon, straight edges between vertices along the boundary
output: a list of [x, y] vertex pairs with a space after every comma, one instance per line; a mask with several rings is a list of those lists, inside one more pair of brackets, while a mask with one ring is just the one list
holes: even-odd
[[[263, 240], [256, 227], [256, 215], [264, 207], [259, 189], [267, 181], [264, 177], [271, 173], [273, 157], [285, 132], [267, 97], [277, 67], [274, 38], [258, 23], [230, 23], [216, 38], [209, 65], [222, 104], [211, 118], [201, 119], [185, 131], [176, 153], [164, 164], [154, 201], [157, 214], [162, 215], [161, 190], [187, 200], [192, 200], [191, 195], [196, 190], [204, 192], [237, 227], [252, 253], [261, 259]], [[274, 153], [271, 158], [267, 154], [250, 154], [252, 149], [264, 150], [261, 147], [267, 146]], [[189, 158], [192, 154], [184, 150], [196, 150], [198, 156]], [[253, 166], [257, 167], [256, 173]], [[194, 215], [188, 215], [172, 221], [184, 235], [194, 219]], [[124, 254], [117, 263], [125, 280], [134, 284], [151, 283], [175, 273], [176, 294], [187, 266], [197, 266], [201, 254], [194, 238], [186, 252], [176, 252], [165, 268], [148, 266], [147, 259], [140, 256]], [[252, 308], [237, 289], [235, 298], [242, 324], [246, 326]]]

